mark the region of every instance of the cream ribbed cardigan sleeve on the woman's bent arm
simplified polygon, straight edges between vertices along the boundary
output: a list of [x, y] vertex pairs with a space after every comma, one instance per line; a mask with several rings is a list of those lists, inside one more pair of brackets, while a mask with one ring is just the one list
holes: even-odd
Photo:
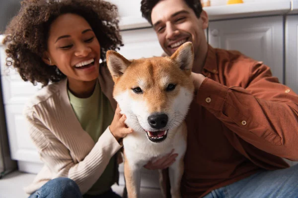
[[62, 144], [34, 116], [34, 112], [25, 113], [30, 137], [36, 145], [41, 160], [50, 169], [52, 179], [68, 177], [85, 194], [98, 180], [111, 157], [122, 147], [111, 134], [109, 127], [100, 136], [95, 146], [82, 161], [74, 161], [70, 150]]

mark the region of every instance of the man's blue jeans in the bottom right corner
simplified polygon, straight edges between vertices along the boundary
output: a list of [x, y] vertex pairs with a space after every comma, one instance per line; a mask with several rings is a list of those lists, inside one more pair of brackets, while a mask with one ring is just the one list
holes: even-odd
[[298, 164], [290, 168], [261, 171], [204, 198], [298, 198]]

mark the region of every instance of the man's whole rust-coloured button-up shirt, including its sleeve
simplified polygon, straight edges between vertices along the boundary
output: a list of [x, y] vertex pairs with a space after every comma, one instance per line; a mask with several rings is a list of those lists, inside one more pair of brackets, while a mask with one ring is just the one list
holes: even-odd
[[184, 198], [298, 160], [298, 96], [268, 66], [209, 46], [202, 74], [186, 118]]

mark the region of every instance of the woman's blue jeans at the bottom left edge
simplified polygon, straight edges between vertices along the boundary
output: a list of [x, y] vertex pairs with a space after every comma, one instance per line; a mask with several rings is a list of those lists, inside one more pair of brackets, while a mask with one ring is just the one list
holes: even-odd
[[77, 184], [65, 177], [48, 181], [29, 198], [121, 198], [112, 190], [98, 196], [81, 195]]

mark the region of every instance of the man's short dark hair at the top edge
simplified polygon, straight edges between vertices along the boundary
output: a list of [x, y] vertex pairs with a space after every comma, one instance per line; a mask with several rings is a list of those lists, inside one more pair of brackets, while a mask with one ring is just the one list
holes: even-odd
[[[147, 21], [152, 25], [151, 21], [151, 12], [153, 7], [159, 2], [160, 0], [142, 0], [141, 1], [141, 12], [142, 16], [147, 19]], [[202, 4], [201, 0], [184, 0], [186, 4], [194, 10], [196, 16], [200, 18], [202, 13]]]

